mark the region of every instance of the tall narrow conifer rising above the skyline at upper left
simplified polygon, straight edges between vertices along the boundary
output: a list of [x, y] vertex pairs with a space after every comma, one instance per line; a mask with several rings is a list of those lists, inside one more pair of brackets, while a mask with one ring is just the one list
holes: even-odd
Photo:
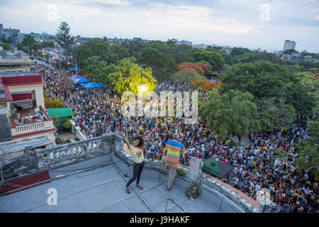
[[65, 50], [65, 61], [69, 59], [69, 55], [73, 51], [73, 40], [71, 33], [69, 33], [70, 27], [67, 22], [60, 23], [57, 28], [57, 43]]

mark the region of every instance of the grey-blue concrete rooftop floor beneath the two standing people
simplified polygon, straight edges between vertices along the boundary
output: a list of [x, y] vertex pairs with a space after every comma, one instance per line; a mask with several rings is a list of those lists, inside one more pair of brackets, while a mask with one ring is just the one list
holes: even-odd
[[[130, 177], [126, 177], [130, 179]], [[22, 192], [0, 196], [0, 212], [90, 212], [90, 213], [144, 213], [152, 212], [131, 189], [125, 192], [125, 180], [113, 165], [95, 170], [81, 172], [68, 177], [55, 179], [48, 184], [42, 184]], [[167, 191], [167, 184], [141, 176], [140, 184], [144, 189], [135, 187], [143, 199], [156, 213], [163, 213], [167, 204], [167, 196], [174, 199], [181, 207], [191, 213], [216, 213], [213, 204], [208, 204], [201, 197], [189, 199], [184, 189], [172, 186]], [[47, 190], [57, 189], [57, 205], [48, 205]], [[168, 202], [167, 213], [183, 213], [172, 201]]]

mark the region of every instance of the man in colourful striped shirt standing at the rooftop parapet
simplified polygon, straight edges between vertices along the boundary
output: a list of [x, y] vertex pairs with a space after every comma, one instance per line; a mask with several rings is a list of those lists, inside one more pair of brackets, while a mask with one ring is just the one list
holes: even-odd
[[179, 142], [179, 133], [173, 134], [173, 139], [168, 140], [164, 148], [165, 155], [162, 157], [162, 173], [166, 175], [166, 168], [169, 165], [169, 180], [167, 182], [167, 190], [171, 190], [172, 184], [174, 182], [175, 173], [179, 167], [179, 157], [181, 155], [186, 155], [186, 157], [191, 159], [184, 148], [184, 145]]

